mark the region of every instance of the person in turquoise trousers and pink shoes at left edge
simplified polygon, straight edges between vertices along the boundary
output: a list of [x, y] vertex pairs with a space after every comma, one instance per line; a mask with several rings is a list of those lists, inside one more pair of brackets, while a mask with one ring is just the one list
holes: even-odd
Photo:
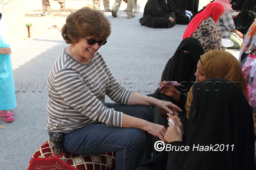
[[0, 0], [0, 115], [4, 122], [14, 121], [12, 109], [17, 106], [12, 73], [11, 48], [3, 16], [4, 1]]

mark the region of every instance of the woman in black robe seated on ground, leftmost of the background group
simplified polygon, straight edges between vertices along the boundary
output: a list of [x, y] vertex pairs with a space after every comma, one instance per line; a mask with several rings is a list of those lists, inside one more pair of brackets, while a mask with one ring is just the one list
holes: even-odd
[[150, 28], [172, 28], [176, 24], [176, 17], [167, 0], [148, 0], [143, 18], [139, 21]]

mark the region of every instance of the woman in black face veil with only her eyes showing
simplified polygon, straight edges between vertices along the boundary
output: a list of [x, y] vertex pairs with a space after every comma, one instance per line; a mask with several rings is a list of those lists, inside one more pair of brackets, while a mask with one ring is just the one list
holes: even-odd
[[[186, 110], [184, 108], [187, 100], [186, 96], [190, 87], [196, 81], [196, 65], [200, 59], [200, 55], [203, 54], [204, 50], [197, 39], [188, 37], [181, 41], [172, 58], [166, 63], [161, 78], [161, 81], [177, 81], [181, 84], [181, 86], [176, 87], [180, 92], [180, 98], [174, 100], [172, 97], [161, 93], [159, 89], [153, 94], [148, 94], [148, 96], [175, 103], [184, 112], [182, 112], [183, 114], [179, 114], [186, 119]], [[166, 114], [164, 116], [166, 116]], [[161, 124], [161, 122], [159, 123]], [[163, 120], [163, 123], [167, 126], [166, 119]]]

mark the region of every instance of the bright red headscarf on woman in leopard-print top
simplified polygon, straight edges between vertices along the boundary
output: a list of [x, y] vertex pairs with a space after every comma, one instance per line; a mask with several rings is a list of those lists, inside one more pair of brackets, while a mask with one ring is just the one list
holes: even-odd
[[202, 12], [199, 12], [195, 15], [195, 17], [188, 24], [187, 29], [183, 34], [183, 40], [187, 37], [190, 37], [192, 33], [195, 32], [197, 27], [201, 24], [201, 22], [208, 18], [209, 16], [217, 23], [217, 20], [220, 17], [220, 14], [224, 12], [224, 7], [222, 4], [215, 2], [208, 4]]

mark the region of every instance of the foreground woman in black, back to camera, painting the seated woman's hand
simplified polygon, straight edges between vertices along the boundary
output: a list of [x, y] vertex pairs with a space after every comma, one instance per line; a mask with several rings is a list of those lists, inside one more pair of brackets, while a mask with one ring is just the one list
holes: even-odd
[[[175, 126], [169, 123], [164, 138], [181, 148], [180, 120], [170, 118]], [[252, 110], [234, 82], [211, 78], [193, 85], [185, 145], [188, 151], [169, 151], [166, 169], [255, 170]]]

